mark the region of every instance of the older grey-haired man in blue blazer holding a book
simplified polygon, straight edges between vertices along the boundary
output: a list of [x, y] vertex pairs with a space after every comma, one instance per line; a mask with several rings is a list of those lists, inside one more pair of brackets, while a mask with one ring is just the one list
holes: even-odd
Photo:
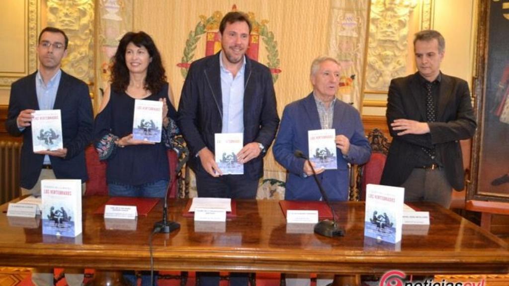
[[335, 129], [337, 169], [317, 169], [318, 179], [332, 201], [348, 200], [348, 163], [362, 164], [370, 158], [371, 147], [359, 112], [336, 98], [340, 71], [335, 59], [316, 59], [310, 74], [313, 92], [285, 107], [272, 150], [276, 161], [289, 172], [285, 199], [318, 201], [322, 198], [310, 177], [313, 175], [310, 162], [294, 155], [299, 150], [309, 158], [309, 130]]

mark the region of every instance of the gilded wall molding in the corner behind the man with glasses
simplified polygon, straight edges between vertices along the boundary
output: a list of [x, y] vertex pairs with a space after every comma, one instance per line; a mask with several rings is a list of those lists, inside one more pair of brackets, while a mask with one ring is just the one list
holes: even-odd
[[25, 40], [28, 47], [20, 47], [27, 49], [27, 56], [25, 58], [25, 72], [20, 75], [0, 76], [0, 88], [10, 88], [11, 84], [19, 78], [33, 73], [37, 69], [37, 36], [38, 36], [38, 11], [39, 0], [28, 0], [25, 6], [25, 13], [27, 18], [27, 28]]

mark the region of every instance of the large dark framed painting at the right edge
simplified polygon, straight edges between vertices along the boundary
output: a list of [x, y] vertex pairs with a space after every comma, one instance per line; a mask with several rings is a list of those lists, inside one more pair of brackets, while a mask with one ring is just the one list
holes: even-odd
[[479, 1], [477, 132], [468, 199], [509, 202], [509, 1]]

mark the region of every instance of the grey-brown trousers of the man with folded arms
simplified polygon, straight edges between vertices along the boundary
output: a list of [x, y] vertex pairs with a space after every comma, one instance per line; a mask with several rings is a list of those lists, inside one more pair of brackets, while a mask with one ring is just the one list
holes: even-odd
[[405, 188], [405, 202], [433, 202], [446, 209], [450, 206], [453, 187], [443, 168], [414, 168], [401, 187]]

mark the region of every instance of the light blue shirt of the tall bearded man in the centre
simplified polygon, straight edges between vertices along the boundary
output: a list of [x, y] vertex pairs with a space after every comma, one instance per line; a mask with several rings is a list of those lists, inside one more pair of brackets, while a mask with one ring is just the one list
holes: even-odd
[[246, 59], [235, 78], [233, 74], [223, 66], [222, 51], [219, 55], [222, 92], [222, 129], [221, 133], [244, 132], [244, 74]]

